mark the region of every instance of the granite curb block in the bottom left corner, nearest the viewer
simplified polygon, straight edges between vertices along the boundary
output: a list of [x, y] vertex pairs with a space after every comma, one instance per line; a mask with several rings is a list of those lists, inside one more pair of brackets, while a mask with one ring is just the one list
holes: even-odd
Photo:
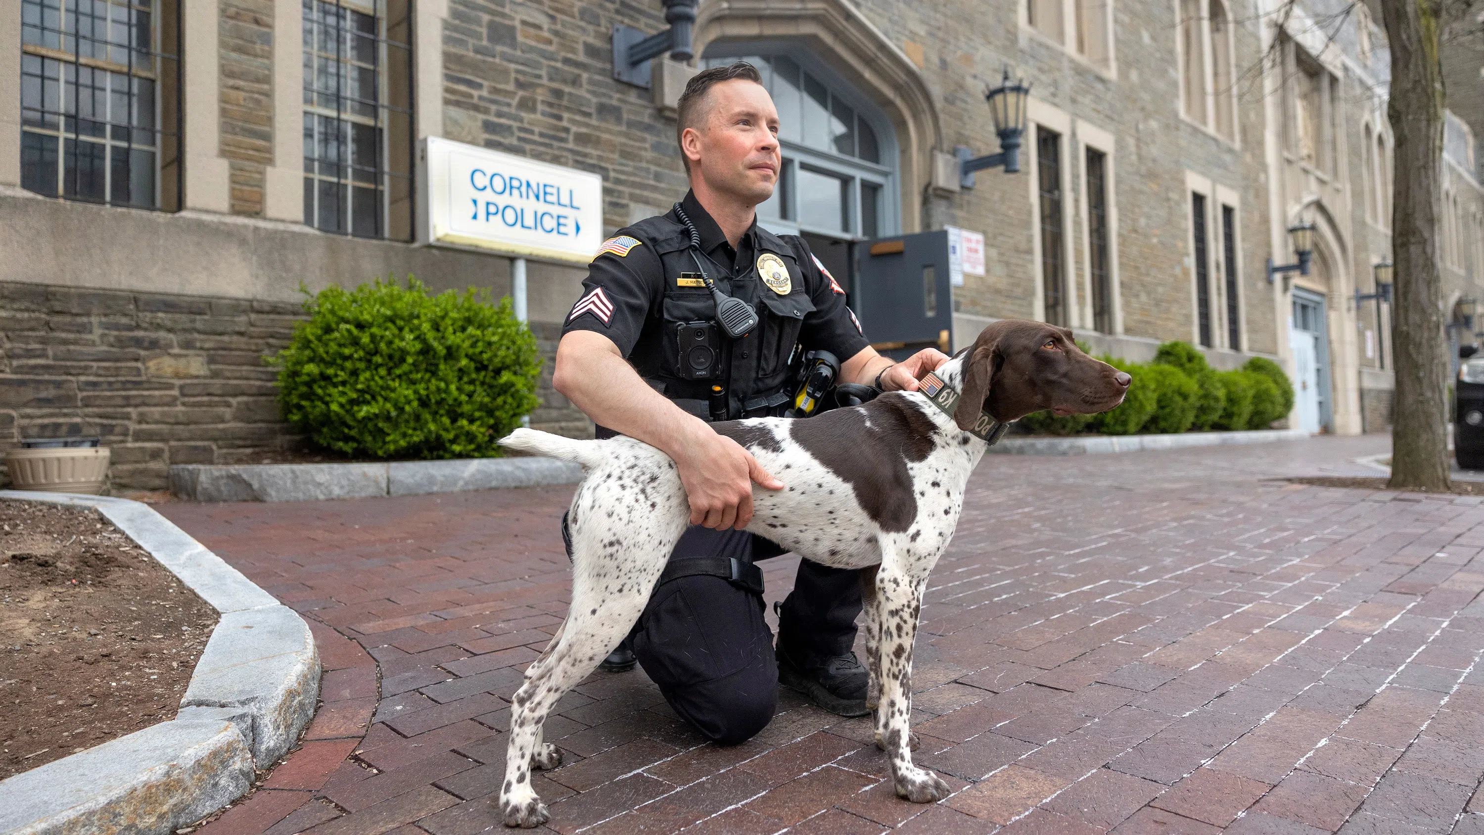
[[0, 832], [172, 832], [242, 796], [252, 752], [232, 722], [160, 722], [0, 782]]

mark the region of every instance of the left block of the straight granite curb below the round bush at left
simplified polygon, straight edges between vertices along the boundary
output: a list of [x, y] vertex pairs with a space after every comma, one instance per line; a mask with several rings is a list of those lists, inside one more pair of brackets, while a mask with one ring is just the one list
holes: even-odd
[[365, 498], [386, 495], [386, 464], [180, 464], [171, 492], [196, 501]]

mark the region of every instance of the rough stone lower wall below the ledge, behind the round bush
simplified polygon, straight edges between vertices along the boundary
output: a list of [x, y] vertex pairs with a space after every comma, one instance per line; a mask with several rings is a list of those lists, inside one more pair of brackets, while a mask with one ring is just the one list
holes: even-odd
[[[160, 489], [171, 464], [304, 448], [264, 363], [301, 317], [283, 301], [0, 282], [0, 454], [22, 438], [96, 435], [116, 488]], [[551, 389], [559, 328], [534, 331], [545, 363], [531, 426], [591, 438]]]

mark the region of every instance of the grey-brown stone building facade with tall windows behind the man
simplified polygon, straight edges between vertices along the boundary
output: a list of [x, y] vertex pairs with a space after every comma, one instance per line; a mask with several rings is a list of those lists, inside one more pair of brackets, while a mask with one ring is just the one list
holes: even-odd
[[[418, 240], [423, 138], [601, 175], [611, 233], [684, 193], [674, 99], [696, 65], [739, 56], [798, 116], [770, 225], [847, 274], [853, 242], [985, 236], [984, 274], [953, 292], [954, 343], [1028, 317], [1135, 360], [1187, 340], [1220, 368], [1297, 371], [1297, 291], [1322, 334], [1315, 429], [1388, 421], [1386, 314], [1350, 298], [1389, 254], [1385, 37], [1356, 15], [1316, 40], [1321, 0], [1282, 30], [1279, 0], [702, 0], [696, 61], [653, 62], [650, 88], [614, 77], [613, 33], [663, 30], [659, 0], [108, 3], [148, 12], [147, 39], [67, 53], [67, 0], [0, 7], [0, 446], [101, 435], [116, 482], [151, 488], [172, 463], [295, 443], [261, 357], [301, 283], [510, 292], [509, 257]], [[86, 114], [105, 131], [61, 113], [80, 67], [129, 90]], [[965, 187], [956, 148], [999, 150], [984, 93], [1006, 68], [1031, 83], [1021, 171]], [[1447, 280], [1475, 298], [1478, 169], [1457, 157], [1478, 126], [1450, 125]], [[1321, 230], [1316, 268], [1269, 282], [1298, 220]], [[582, 277], [530, 261], [548, 357]], [[591, 432], [549, 375], [533, 426]]]

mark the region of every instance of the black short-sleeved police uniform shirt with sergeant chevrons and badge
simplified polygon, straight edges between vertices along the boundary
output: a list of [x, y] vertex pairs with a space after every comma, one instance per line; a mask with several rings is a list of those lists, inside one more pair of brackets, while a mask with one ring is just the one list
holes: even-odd
[[[709, 257], [702, 258], [706, 276], [723, 292], [752, 304], [761, 319], [739, 340], [729, 340], [718, 328], [727, 346], [724, 357], [730, 374], [724, 362], [717, 380], [678, 378], [675, 323], [715, 320], [715, 303], [697, 280], [697, 267], [687, 251], [690, 233], [674, 209], [625, 227], [604, 242], [588, 268], [582, 297], [567, 314], [564, 335], [573, 331], [603, 334], [641, 377], [672, 400], [695, 399], [692, 403], [697, 403], [712, 384], [729, 386], [733, 417], [749, 396], [791, 384], [788, 362], [795, 343], [806, 352], [827, 350], [841, 363], [870, 344], [855, 313], [846, 307], [844, 289], [801, 237], [775, 236], [754, 220], [733, 249], [693, 193], [686, 194], [681, 206], [700, 236], [702, 252]], [[787, 282], [773, 277], [779, 270], [772, 260], [763, 261], [772, 280], [761, 280], [757, 265], [769, 254], [787, 268]]]

